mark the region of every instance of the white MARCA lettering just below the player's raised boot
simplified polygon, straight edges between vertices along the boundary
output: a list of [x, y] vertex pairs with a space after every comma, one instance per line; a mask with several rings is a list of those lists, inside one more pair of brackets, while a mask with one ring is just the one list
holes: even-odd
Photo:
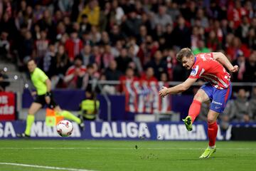
[[156, 124], [159, 140], [206, 140], [206, 130], [203, 125], [193, 125], [192, 131], [187, 131], [185, 125]]

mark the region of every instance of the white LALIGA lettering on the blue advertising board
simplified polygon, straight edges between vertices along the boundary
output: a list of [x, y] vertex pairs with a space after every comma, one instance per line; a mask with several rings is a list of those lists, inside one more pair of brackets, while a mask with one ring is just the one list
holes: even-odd
[[95, 122], [91, 122], [90, 130], [93, 138], [150, 138], [146, 123], [103, 122], [99, 129]]

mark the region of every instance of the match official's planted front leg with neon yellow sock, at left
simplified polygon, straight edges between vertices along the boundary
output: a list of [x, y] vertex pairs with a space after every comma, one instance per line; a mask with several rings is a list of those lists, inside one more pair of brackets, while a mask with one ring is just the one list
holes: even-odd
[[42, 108], [41, 103], [33, 102], [31, 107], [28, 109], [28, 116], [26, 119], [26, 130], [24, 133], [17, 134], [17, 137], [26, 138], [30, 137], [31, 134], [31, 126], [35, 120], [35, 114]]

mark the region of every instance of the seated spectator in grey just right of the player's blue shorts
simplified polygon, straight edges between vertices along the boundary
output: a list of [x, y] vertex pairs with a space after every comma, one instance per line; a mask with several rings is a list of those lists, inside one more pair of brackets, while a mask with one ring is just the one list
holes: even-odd
[[249, 122], [249, 112], [249, 101], [247, 100], [246, 91], [244, 88], [240, 88], [238, 90], [237, 98], [228, 102], [223, 113], [228, 116], [229, 120]]

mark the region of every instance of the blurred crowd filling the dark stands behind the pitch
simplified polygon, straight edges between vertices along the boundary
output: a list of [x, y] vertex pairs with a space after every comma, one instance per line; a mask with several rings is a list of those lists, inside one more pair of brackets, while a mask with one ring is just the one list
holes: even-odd
[[0, 57], [23, 71], [35, 59], [55, 88], [184, 81], [176, 53], [185, 47], [221, 51], [240, 67], [233, 81], [255, 82], [255, 1], [0, 0]]

